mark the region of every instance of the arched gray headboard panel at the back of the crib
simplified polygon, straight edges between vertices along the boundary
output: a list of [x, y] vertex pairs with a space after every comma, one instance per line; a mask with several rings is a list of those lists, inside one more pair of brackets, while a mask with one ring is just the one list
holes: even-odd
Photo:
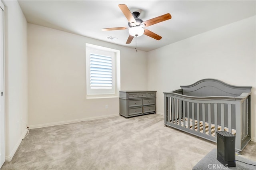
[[192, 85], [180, 86], [183, 95], [188, 96], [240, 96], [244, 92], [250, 92], [251, 86], [234, 86], [217, 79], [202, 79]]

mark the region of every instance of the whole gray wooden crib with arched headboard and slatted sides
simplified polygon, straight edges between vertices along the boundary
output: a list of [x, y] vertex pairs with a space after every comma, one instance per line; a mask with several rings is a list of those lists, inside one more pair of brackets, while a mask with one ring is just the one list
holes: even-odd
[[236, 152], [251, 140], [252, 87], [202, 79], [164, 92], [164, 124], [217, 142], [216, 131], [236, 135]]

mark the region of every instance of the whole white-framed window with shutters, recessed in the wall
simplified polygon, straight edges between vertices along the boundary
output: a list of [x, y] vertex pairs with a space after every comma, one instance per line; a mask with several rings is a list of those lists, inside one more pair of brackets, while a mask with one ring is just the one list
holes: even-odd
[[86, 43], [87, 98], [118, 96], [118, 75], [120, 51]]

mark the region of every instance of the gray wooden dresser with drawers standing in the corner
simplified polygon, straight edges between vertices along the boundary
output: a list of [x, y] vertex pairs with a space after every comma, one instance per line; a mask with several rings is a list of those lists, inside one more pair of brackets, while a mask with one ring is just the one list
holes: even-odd
[[156, 113], [156, 91], [119, 91], [119, 103], [126, 118]]

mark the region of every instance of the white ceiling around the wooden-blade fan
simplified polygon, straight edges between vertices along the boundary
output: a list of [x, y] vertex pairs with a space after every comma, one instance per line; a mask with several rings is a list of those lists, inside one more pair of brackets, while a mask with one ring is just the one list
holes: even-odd
[[[170, 13], [172, 19], [147, 27], [162, 36], [159, 41], [142, 35], [138, 49], [150, 51], [256, 15], [256, 1], [194, 0], [20, 0], [28, 23], [46, 26], [126, 47], [135, 47], [136, 40], [126, 44], [128, 30], [101, 31], [101, 28], [126, 27], [128, 20], [118, 7], [126, 4], [131, 12], [142, 10], [139, 18], [146, 21]], [[113, 40], [108, 36], [114, 37]]]

